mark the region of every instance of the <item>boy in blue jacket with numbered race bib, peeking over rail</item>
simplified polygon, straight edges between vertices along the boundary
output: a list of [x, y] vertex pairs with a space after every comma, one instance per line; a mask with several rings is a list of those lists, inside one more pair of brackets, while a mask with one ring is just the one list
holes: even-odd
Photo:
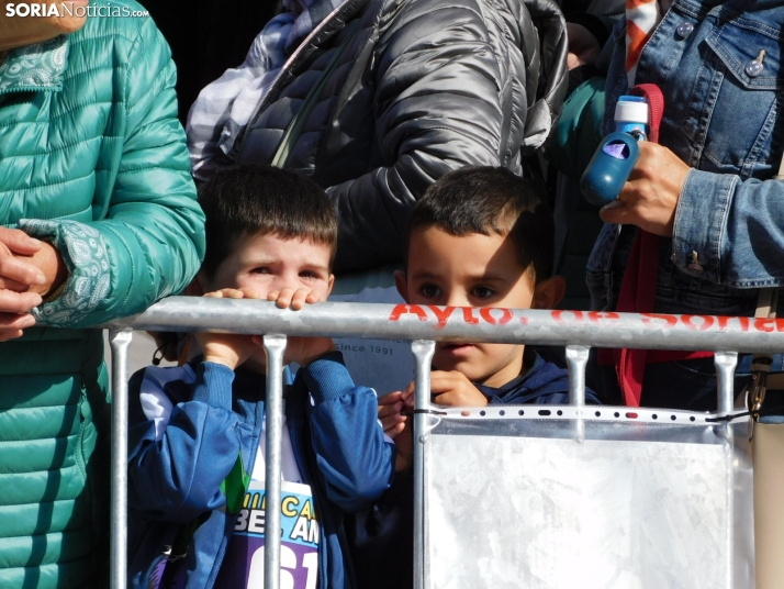
[[[301, 309], [326, 299], [337, 221], [293, 171], [244, 166], [202, 187], [206, 257], [194, 293]], [[202, 356], [131, 379], [128, 504], [133, 587], [261, 587], [265, 352], [261, 336], [197, 334]], [[289, 337], [302, 368], [284, 390], [281, 577], [354, 588], [344, 512], [380, 496], [394, 448], [372, 389], [326, 337]]]

